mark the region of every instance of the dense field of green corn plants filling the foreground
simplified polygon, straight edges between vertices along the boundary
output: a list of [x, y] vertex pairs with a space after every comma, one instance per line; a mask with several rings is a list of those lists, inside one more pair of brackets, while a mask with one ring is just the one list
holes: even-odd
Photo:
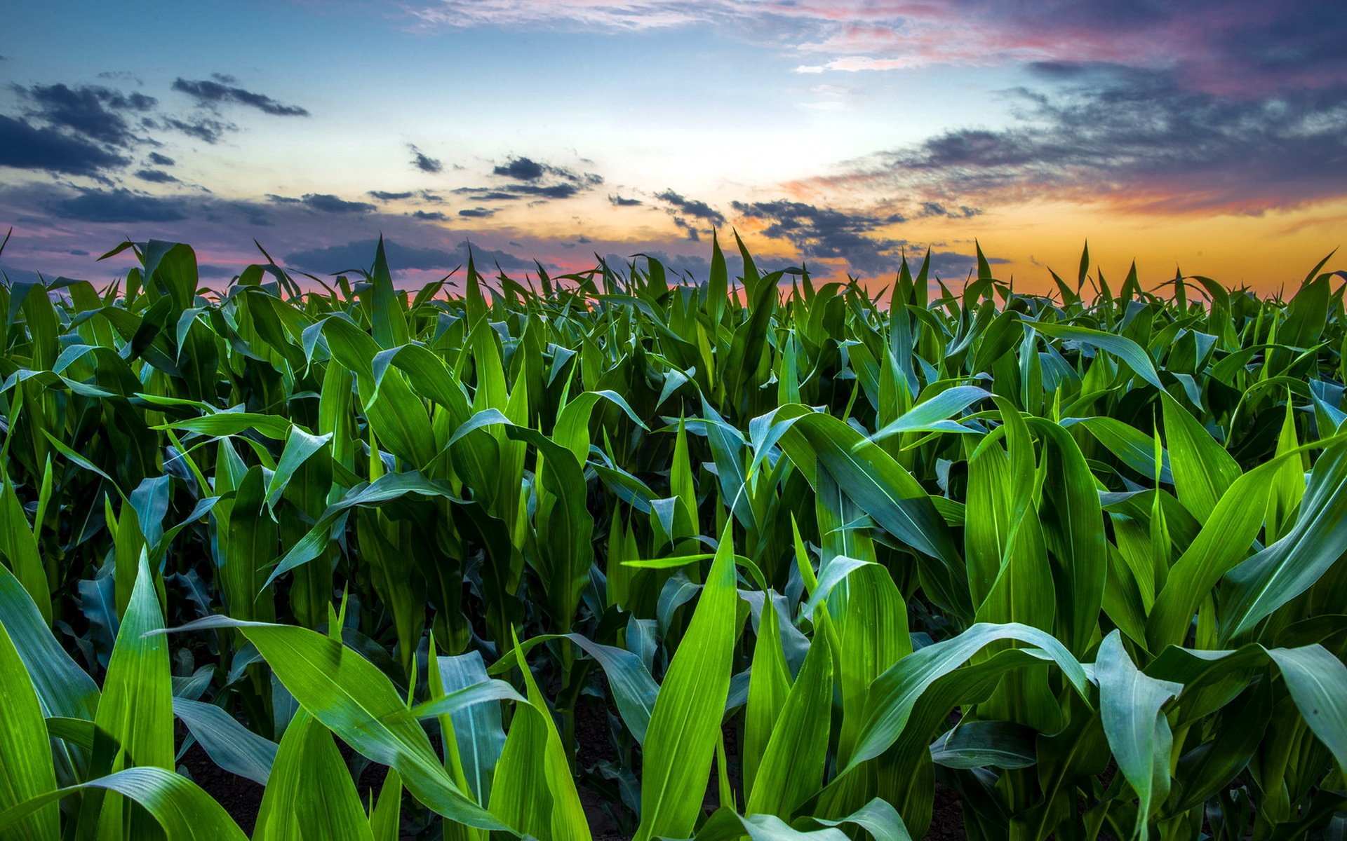
[[1324, 264], [405, 292], [380, 244], [211, 292], [125, 249], [0, 288], [3, 838], [242, 838], [193, 745], [255, 840], [897, 841], [938, 782], [970, 838], [1347, 833]]

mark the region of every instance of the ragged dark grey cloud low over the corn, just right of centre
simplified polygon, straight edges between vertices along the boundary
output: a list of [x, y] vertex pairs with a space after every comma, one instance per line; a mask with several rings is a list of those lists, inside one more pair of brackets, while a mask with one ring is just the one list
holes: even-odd
[[806, 258], [843, 258], [865, 273], [885, 272], [896, 262], [904, 242], [874, 235], [882, 227], [905, 222], [901, 214], [870, 214], [816, 207], [804, 202], [734, 202], [734, 210], [769, 225], [764, 234], [785, 240]]

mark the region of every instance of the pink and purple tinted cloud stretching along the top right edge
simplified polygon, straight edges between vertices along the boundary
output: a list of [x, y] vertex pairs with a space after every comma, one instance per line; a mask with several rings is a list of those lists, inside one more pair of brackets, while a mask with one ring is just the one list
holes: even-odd
[[1172, 70], [1193, 90], [1268, 96], [1347, 83], [1347, 5], [1319, 0], [1188, 0], [1141, 8], [1115, 0], [442, 0], [424, 26], [652, 30], [715, 22], [785, 30], [818, 69], [1110, 62]]

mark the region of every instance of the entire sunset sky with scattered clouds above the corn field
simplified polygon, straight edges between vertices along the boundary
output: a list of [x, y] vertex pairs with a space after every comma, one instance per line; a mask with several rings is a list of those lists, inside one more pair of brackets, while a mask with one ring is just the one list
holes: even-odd
[[[633, 254], [1293, 289], [1347, 233], [1342, 0], [0, 0], [0, 270]], [[1335, 257], [1328, 266], [1343, 268]], [[461, 275], [459, 275], [461, 276]]]

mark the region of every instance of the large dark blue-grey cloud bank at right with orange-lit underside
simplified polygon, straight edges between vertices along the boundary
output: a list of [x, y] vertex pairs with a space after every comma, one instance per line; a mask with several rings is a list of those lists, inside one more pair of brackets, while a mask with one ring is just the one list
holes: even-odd
[[1164, 70], [1039, 73], [1052, 86], [1013, 92], [1012, 126], [951, 129], [815, 186], [917, 194], [942, 207], [948, 196], [1052, 196], [1157, 214], [1258, 214], [1347, 191], [1347, 83], [1263, 100], [1191, 90]]

